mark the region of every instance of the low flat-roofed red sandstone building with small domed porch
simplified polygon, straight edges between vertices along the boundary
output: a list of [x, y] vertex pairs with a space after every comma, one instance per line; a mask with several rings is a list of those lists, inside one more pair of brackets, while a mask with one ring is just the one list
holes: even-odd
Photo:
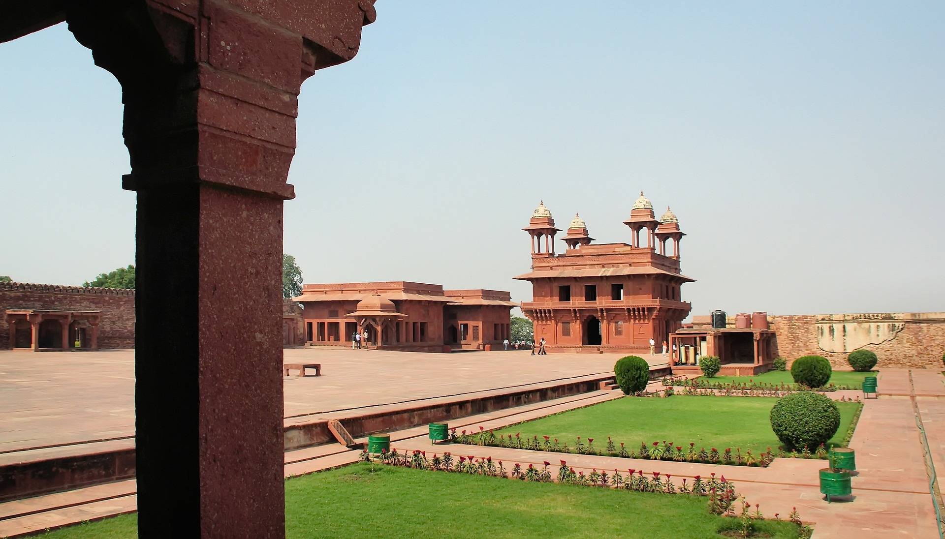
[[351, 346], [355, 332], [367, 332], [371, 346], [415, 352], [501, 345], [518, 306], [507, 292], [406, 281], [306, 284], [293, 300], [307, 344]]

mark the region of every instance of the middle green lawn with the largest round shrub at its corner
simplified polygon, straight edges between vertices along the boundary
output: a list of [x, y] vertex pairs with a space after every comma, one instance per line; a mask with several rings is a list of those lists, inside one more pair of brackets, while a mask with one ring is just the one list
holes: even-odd
[[[726, 447], [732, 451], [742, 448], [742, 454], [751, 449], [757, 456], [768, 447], [777, 450], [781, 446], [771, 430], [769, 413], [778, 401], [767, 396], [627, 396], [558, 413], [497, 430], [496, 434], [521, 432], [523, 438], [548, 435], [558, 438], [572, 448], [577, 436], [583, 443], [593, 438], [598, 450], [607, 447], [607, 437], [619, 447], [623, 442], [627, 450], [638, 450], [640, 443], [672, 442], [676, 446], [696, 443], [696, 450], [705, 447]], [[837, 402], [840, 408], [840, 428], [830, 445], [842, 443], [858, 403]]]

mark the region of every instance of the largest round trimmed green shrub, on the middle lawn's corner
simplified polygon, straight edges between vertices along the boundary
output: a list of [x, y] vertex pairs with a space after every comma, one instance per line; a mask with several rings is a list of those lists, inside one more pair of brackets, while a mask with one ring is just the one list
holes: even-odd
[[840, 428], [840, 411], [830, 398], [802, 391], [784, 396], [771, 409], [771, 430], [787, 450], [816, 450]]

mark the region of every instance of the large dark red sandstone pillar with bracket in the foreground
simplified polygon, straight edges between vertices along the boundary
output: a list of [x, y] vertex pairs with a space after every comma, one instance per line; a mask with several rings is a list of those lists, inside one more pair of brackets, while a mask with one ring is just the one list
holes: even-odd
[[23, 2], [4, 14], [0, 42], [67, 21], [122, 86], [123, 184], [137, 192], [139, 535], [283, 537], [297, 96], [354, 57], [373, 0]]

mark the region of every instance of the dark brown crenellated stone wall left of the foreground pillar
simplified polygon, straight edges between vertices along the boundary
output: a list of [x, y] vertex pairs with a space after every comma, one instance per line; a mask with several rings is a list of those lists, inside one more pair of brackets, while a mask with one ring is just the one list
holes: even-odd
[[8, 309], [98, 311], [98, 347], [134, 347], [133, 290], [0, 282], [0, 349], [10, 347]]

